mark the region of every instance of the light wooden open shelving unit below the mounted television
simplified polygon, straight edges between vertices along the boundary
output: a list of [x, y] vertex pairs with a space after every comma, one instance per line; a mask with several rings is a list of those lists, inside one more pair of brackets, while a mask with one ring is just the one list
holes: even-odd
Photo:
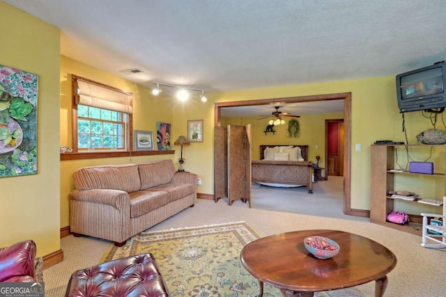
[[[397, 230], [417, 234], [421, 236], [421, 222], [418, 215], [410, 215], [410, 222], [406, 225], [398, 225], [387, 222], [387, 214], [394, 210], [394, 198], [387, 193], [394, 191], [394, 177], [396, 175], [423, 175], [440, 179], [443, 182], [446, 195], [446, 175], [444, 173], [434, 173], [433, 175], [425, 175], [411, 172], [394, 172], [390, 169], [395, 166], [395, 147], [404, 147], [405, 145], [371, 145], [371, 181], [370, 181], [370, 221], [380, 225], [385, 225]], [[408, 147], [431, 147], [432, 145], [408, 145]], [[438, 147], [446, 147], [446, 145], [435, 145]], [[445, 164], [446, 165], [446, 164]], [[435, 168], [435, 166], [434, 166]], [[444, 167], [446, 168], [446, 166]], [[439, 181], [440, 182], [440, 181]], [[407, 203], [417, 203], [410, 200], [399, 200]], [[440, 213], [439, 210], [438, 213]]]

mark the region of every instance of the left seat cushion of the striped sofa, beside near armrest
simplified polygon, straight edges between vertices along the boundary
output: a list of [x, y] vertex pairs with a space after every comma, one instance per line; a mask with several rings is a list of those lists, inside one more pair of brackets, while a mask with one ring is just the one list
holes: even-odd
[[137, 218], [169, 203], [170, 195], [164, 191], [138, 191], [130, 193], [130, 218]]

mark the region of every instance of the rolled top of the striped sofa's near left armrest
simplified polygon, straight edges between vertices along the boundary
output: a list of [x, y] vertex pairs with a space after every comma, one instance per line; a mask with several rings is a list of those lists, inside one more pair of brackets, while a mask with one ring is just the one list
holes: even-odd
[[130, 207], [130, 195], [127, 192], [121, 190], [75, 190], [71, 193], [71, 200], [106, 204], [112, 207], [116, 207], [116, 209], [122, 209], [125, 204], [128, 204]]

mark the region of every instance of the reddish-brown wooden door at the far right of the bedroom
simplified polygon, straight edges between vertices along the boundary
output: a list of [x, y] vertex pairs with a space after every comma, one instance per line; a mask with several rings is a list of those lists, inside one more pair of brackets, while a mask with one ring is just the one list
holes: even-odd
[[325, 172], [344, 175], [344, 120], [325, 120]]

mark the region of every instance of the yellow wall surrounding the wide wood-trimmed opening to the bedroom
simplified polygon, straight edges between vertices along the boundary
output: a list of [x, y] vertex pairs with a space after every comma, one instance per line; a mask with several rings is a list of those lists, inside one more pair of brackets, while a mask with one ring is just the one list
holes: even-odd
[[[370, 145], [378, 139], [405, 141], [401, 131], [401, 115], [397, 106], [394, 77], [376, 77], [348, 81], [314, 83], [305, 86], [285, 86], [256, 90], [208, 95], [210, 102], [232, 102], [250, 99], [270, 99], [280, 97], [297, 97], [332, 93], [352, 93], [352, 135], [351, 135], [351, 207], [353, 209], [370, 209]], [[194, 144], [193, 156], [190, 158], [190, 170], [202, 177], [201, 193], [213, 193], [212, 139], [213, 139], [213, 105], [201, 105], [200, 110], [191, 111], [192, 115], [178, 116], [181, 122], [187, 118], [203, 118], [206, 125], [205, 143]], [[176, 118], [176, 114], [174, 114]], [[175, 121], [174, 121], [175, 122]], [[240, 125], [244, 122], [240, 120]], [[430, 121], [421, 112], [406, 114], [406, 128], [409, 143], [415, 143], [415, 136], [431, 127]], [[306, 129], [306, 128], [305, 128]], [[442, 128], [444, 129], [444, 128]], [[302, 143], [304, 131], [302, 130]], [[255, 132], [254, 132], [255, 133]], [[267, 138], [275, 136], [267, 136]], [[206, 141], [209, 140], [209, 141]], [[278, 138], [277, 138], [278, 139]], [[320, 137], [316, 139], [321, 139]], [[311, 142], [310, 140], [308, 140]], [[316, 142], [321, 143], [320, 140]], [[314, 145], [313, 143], [310, 143]], [[361, 144], [362, 150], [355, 151], [355, 145]], [[321, 150], [321, 144], [319, 145]], [[314, 159], [314, 147], [309, 149], [310, 159]], [[321, 153], [322, 154], [322, 153]], [[254, 154], [255, 157], [255, 154]]]

